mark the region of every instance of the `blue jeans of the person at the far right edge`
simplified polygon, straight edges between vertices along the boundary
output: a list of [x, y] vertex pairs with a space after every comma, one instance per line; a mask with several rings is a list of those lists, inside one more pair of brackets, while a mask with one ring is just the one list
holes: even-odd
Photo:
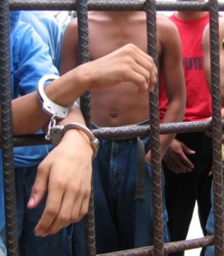
[[[224, 170], [224, 163], [222, 162], [222, 172], [223, 170]], [[212, 184], [212, 187], [211, 187], [211, 203], [212, 203], [212, 208], [210, 210], [209, 217], [207, 220], [207, 225], [206, 225], [208, 236], [214, 235], [214, 183]], [[204, 254], [201, 253], [201, 256], [202, 255], [214, 256], [214, 246], [206, 247]]]

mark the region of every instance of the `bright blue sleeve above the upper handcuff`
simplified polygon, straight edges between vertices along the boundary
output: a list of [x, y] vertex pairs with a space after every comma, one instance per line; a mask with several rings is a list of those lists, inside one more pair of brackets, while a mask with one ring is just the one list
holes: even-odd
[[34, 91], [36, 83], [45, 74], [58, 75], [58, 70], [52, 64], [48, 45], [44, 44], [30, 25], [19, 23], [14, 32], [14, 40], [14, 78], [20, 95]]

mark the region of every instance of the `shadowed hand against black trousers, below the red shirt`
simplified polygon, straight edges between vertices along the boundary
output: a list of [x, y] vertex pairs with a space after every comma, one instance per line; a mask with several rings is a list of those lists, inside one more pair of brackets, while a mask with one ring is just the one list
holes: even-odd
[[184, 143], [174, 139], [164, 156], [164, 162], [176, 174], [190, 172], [194, 166], [186, 154], [193, 153], [195, 152], [189, 149]]

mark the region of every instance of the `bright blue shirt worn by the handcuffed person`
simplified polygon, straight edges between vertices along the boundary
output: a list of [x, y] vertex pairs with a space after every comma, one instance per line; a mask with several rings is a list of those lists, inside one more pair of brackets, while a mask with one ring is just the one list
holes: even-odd
[[[52, 64], [52, 57], [49, 55], [48, 46], [44, 44], [39, 34], [27, 23], [19, 22], [14, 31], [11, 32], [10, 57], [10, 79], [13, 99], [35, 91], [37, 82], [45, 74], [58, 75], [56, 67]], [[38, 165], [48, 154], [49, 149], [51, 149], [50, 147], [50, 145], [16, 147], [14, 149], [15, 167]], [[0, 187], [2, 188], [2, 153], [0, 153], [0, 162]], [[2, 210], [4, 205], [2, 191], [0, 193], [1, 236], [5, 219], [4, 211]]]

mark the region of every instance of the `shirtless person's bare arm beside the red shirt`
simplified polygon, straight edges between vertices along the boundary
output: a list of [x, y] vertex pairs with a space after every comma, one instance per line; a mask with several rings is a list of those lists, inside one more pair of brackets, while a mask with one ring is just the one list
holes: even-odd
[[[166, 31], [170, 36], [163, 32]], [[181, 122], [185, 115], [185, 77], [181, 57], [180, 36], [175, 25], [166, 20], [162, 35], [162, 66], [164, 73], [166, 93], [168, 96], [168, 108], [165, 112], [163, 123]], [[175, 134], [166, 134], [161, 136], [161, 156], [164, 156], [168, 146], [172, 142]]]

